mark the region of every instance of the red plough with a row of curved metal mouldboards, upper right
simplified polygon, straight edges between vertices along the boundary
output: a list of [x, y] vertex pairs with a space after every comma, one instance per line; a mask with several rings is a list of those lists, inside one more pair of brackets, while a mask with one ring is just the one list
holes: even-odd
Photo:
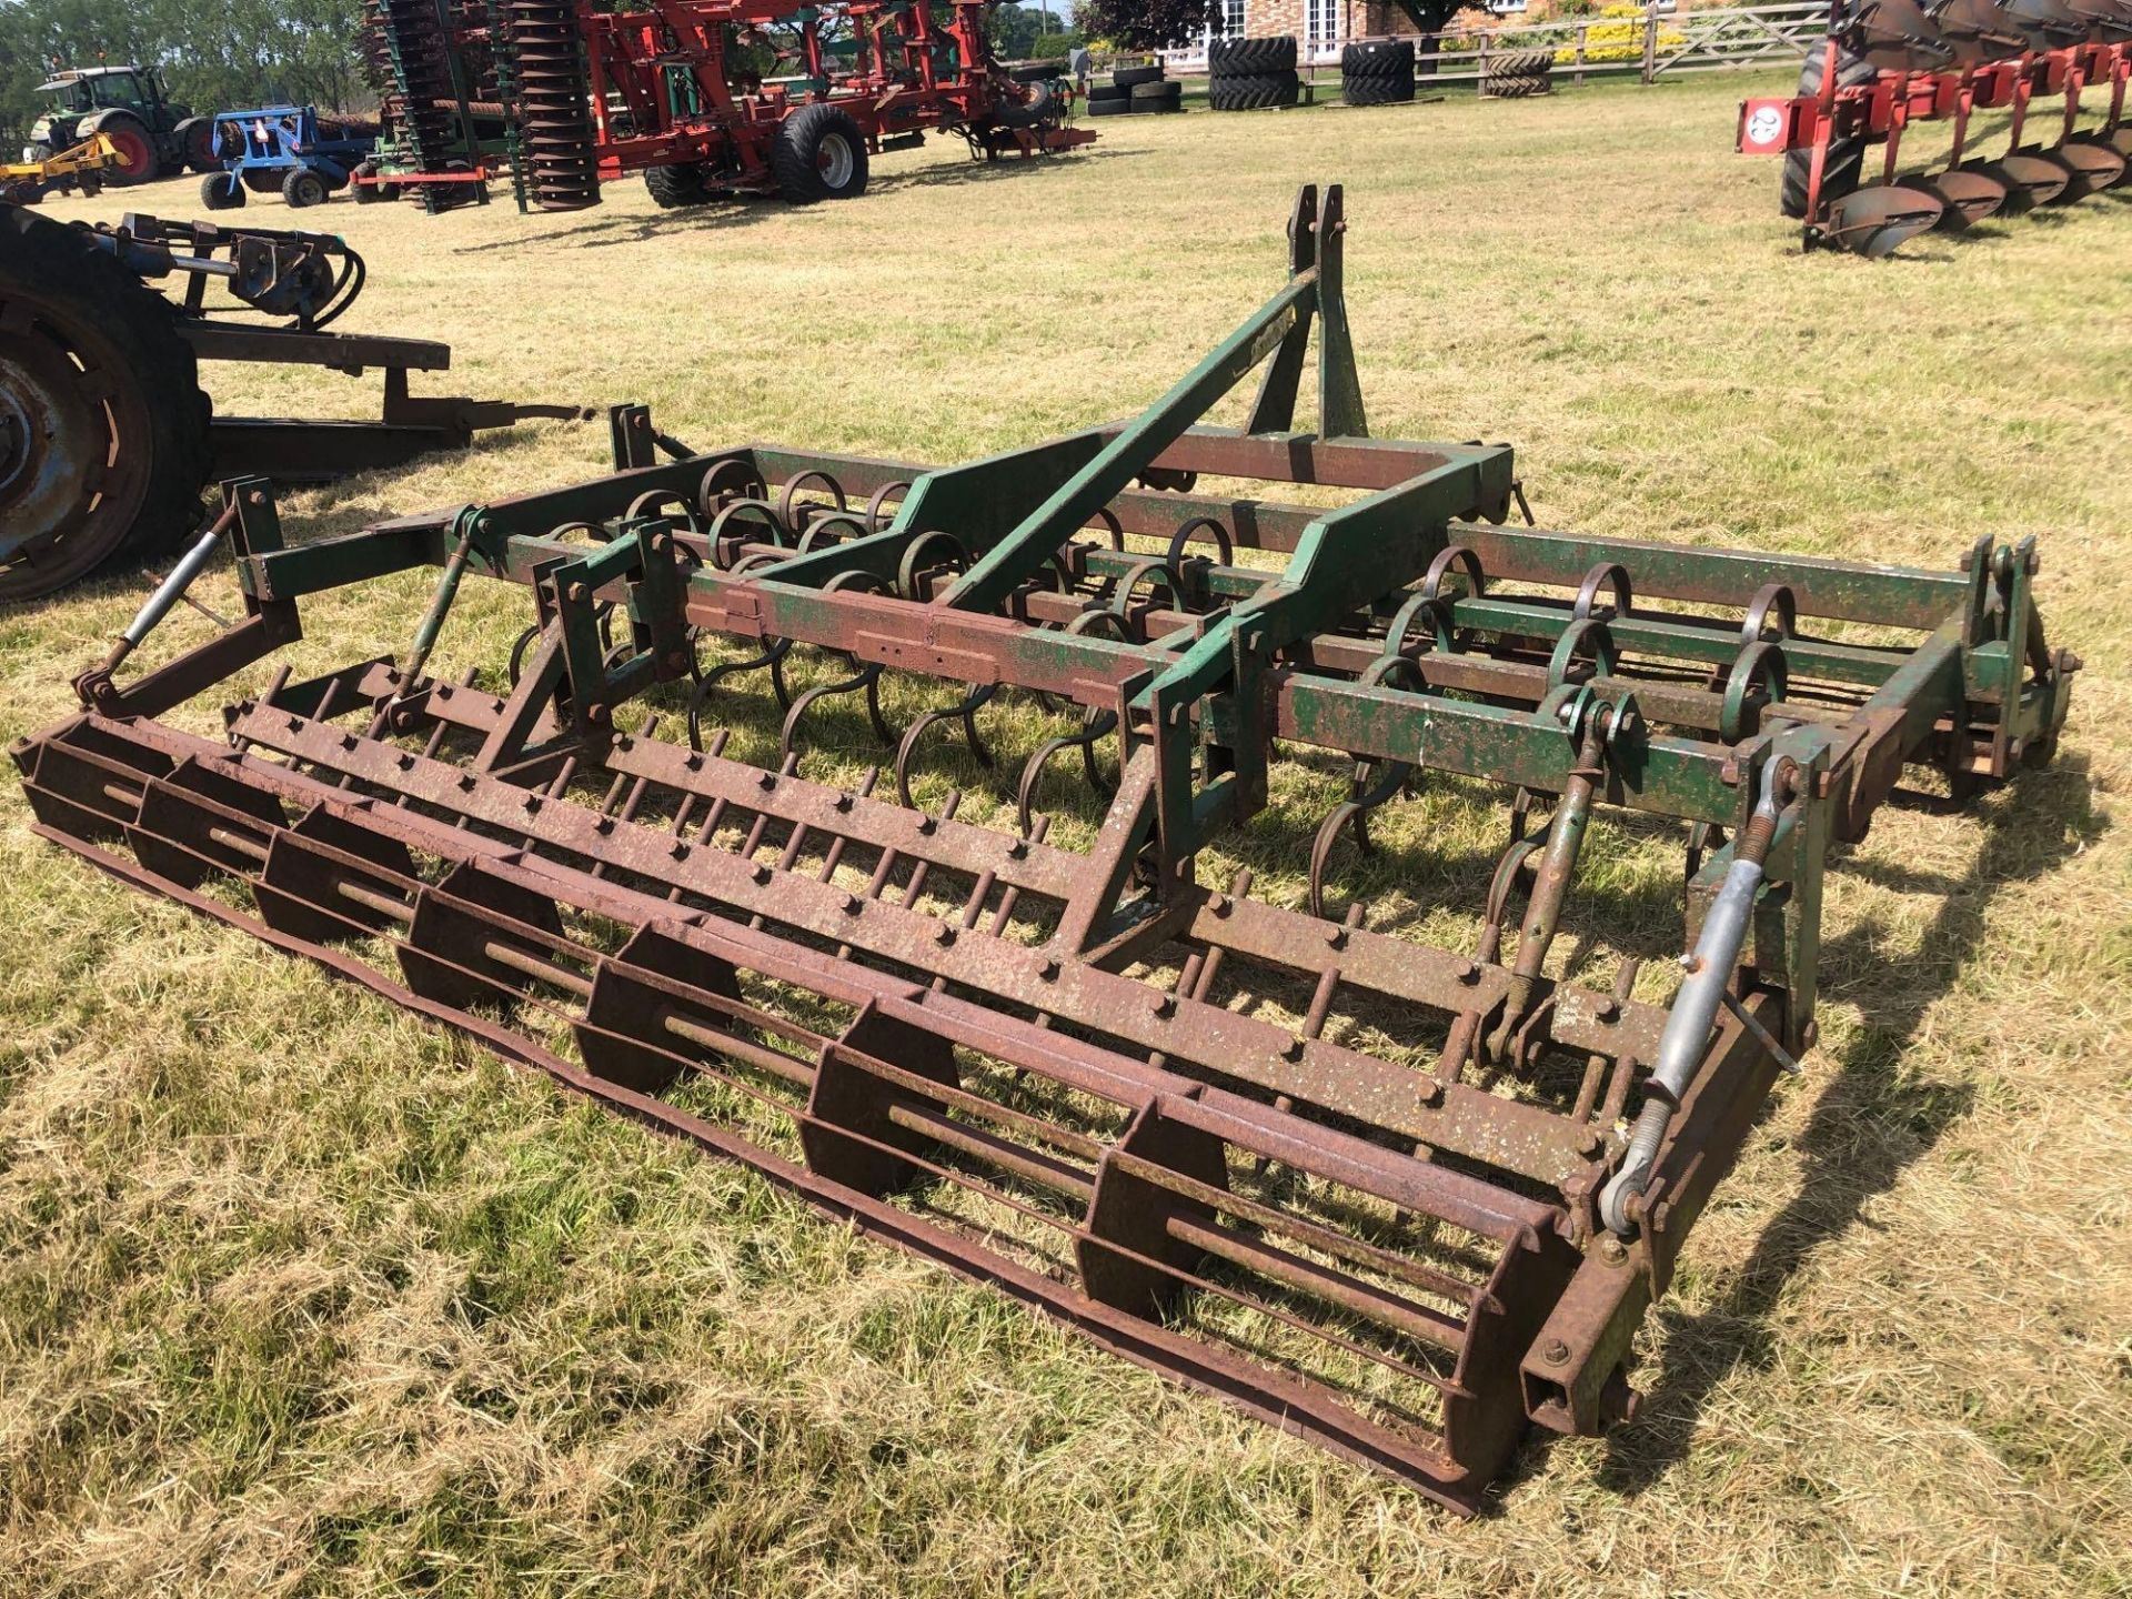
[[[1959, 232], [2121, 183], [2128, 79], [2132, 0], [1836, 0], [1799, 94], [1744, 102], [1738, 147], [1784, 156], [1784, 215], [1802, 220], [1808, 249], [1887, 256], [1929, 228]], [[2089, 90], [2106, 111], [2081, 128]], [[2045, 145], [2030, 122], [2053, 98], [2057, 139]], [[2000, 156], [1970, 154], [1978, 111], [2008, 113]], [[1953, 124], [1940, 171], [1897, 173], [1912, 122]], [[1880, 181], [1861, 185], [1876, 141]]]

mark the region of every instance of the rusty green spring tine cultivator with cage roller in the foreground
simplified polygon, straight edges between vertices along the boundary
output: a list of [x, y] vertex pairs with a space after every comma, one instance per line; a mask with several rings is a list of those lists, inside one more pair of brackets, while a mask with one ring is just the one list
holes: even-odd
[[[232, 482], [243, 620], [79, 680], [15, 748], [38, 829], [1471, 1512], [1529, 1422], [1631, 1409], [1644, 1313], [1814, 1040], [1831, 844], [1906, 768], [1959, 795], [2049, 759], [2079, 663], [2028, 544], [1923, 571], [1505, 527], [1507, 446], [1367, 435], [1343, 243], [1303, 190], [1288, 281], [1153, 407], [968, 465], [697, 454], [620, 407], [608, 478], [348, 537]], [[1258, 371], [1241, 429], [1202, 422]], [[284, 669], [224, 740], [158, 721], [416, 567], [399, 655]], [[475, 582], [531, 599], [514, 669], [433, 672]], [[795, 650], [936, 710], [876, 701], [853, 778]], [[772, 695], [744, 761], [721, 716]], [[991, 825], [915, 765], [1000, 695], [1066, 731], [998, 763]], [[1034, 810], [1079, 761], [1115, 787], [1085, 846]], [[1207, 861], [1290, 761], [1356, 772], [1309, 908]], [[1431, 785], [1512, 802], [1477, 934], [1320, 915], [1332, 840]], [[1671, 994], [1571, 959], [1605, 812], [1686, 851]]]

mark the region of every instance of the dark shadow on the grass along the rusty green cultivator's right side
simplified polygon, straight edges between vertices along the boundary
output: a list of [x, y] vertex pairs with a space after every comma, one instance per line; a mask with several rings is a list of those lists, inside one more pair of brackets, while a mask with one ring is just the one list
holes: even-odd
[[[1599, 1480], [1633, 1495], [1650, 1488], [1686, 1458], [1710, 1394], [1740, 1367], [1767, 1367], [1780, 1343], [1772, 1313], [1784, 1283], [1814, 1251], [1863, 1222], [1866, 1205], [1889, 1192], [1902, 1173], [1923, 1160], [1940, 1136], [1959, 1124], [1976, 1100], [1974, 1083], [1936, 1081], [1897, 1068], [1932, 1006], [1942, 1000], [1978, 955], [1985, 910], [2008, 883], [2040, 878], [2091, 844], [2109, 825], [2094, 810], [2087, 763], [2060, 755], [2042, 772], [2023, 772], [1978, 814], [1985, 838], [1974, 863], [1959, 878], [1944, 878], [1887, 859], [1848, 859], [1836, 870], [1900, 893], [1934, 893], [1940, 910], [1915, 957], [1900, 968], [1929, 974], [1908, 989], [1861, 994], [1844, 979], [1823, 987], [1825, 1002], [1851, 1002], [1866, 1013], [1866, 1028], [1819, 1089], [1812, 1117], [1799, 1134], [1804, 1156], [1799, 1192], [1761, 1230], [1755, 1251], [1723, 1283], [1701, 1313], [1667, 1311], [1665, 1358], [1648, 1375], [1635, 1422], [1616, 1428]], [[1874, 921], [1846, 927], [1823, 949], [1823, 970], [1859, 972], [1861, 983], [1891, 970], [1876, 944]], [[1821, 1060], [1806, 1064], [1808, 1081]], [[1825, 1070], [1825, 1068], [1823, 1068]], [[1529, 1450], [1529, 1467], [1541, 1450]], [[1522, 1473], [1520, 1473], [1522, 1475]]]

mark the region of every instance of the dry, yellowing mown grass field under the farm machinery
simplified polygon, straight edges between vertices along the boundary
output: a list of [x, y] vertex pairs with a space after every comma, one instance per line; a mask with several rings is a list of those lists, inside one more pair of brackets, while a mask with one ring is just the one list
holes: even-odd
[[[301, 217], [371, 260], [350, 326], [452, 341], [431, 392], [949, 461], [1156, 397], [1339, 179], [1373, 431], [1514, 441], [1541, 524], [1932, 565], [2036, 533], [2087, 659], [2062, 759], [1836, 863], [1823, 1045], [1652, 1318], [1633, 1426], [1533, 1443], [1460, 1522], [98, 878], [4, 785], [0, 1595], [2132, 1593], [2132, 194], [1802, 258], [1729, 154], [1742, 87], [1119, 119], [1030, 168], [889, 156], [817, 211]], [[196, 196], [53, 211], [126, 205]], [[290, 524], [603, 448], [533, 424]], [[0, 614], [0, 733], [68, 710], [139, 586]], [[324, 601], [301, 661], [392, 648], [424, 588]], [[1292, 876], [1332, 791], [1294, 778], [1239, 849]], [[1501, 812], [1382, 836], [1373, 893], [1473, 906]], [[1571, 921], [1676, 891], [1671, 849], [1593, 859]], [[1663, 955], [1665, 915], [1610, 936]]]

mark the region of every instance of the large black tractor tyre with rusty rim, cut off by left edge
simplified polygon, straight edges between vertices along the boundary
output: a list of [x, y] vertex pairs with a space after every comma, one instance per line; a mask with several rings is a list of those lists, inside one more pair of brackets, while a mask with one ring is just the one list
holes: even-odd
[[200, 516], [207, 416], [162, 294], [85, 230], [0, 211], [0, 601], [175, 548]]

